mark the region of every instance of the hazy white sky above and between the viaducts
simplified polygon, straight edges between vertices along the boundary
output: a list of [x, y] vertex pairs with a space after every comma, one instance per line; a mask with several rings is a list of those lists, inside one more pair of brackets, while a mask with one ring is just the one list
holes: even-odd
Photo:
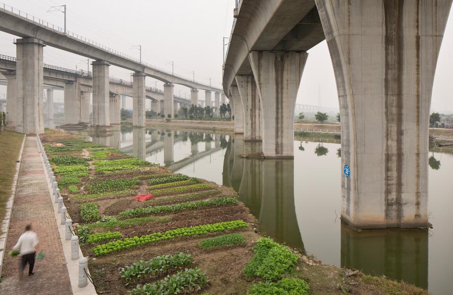
[[[234, 0], [2, 0], [24, 12], [63, 27], [61, 12], [46, 12], [50, 6], [67, 5], [67, 29], [123, 53], [139, 57], [132, 45], [142, 45], [142, 60], [180, 75], [221, 87], [222, 37], [228, 37], [233, 22]], [[0, 32], [0, 54], [16, 56], [15, 36]], [[453, 16], [444, 35], [432, 96], [434, 111], [453, 113], [451, 69], [453, 68]], [[67, 68], [86, 69], [84, 57], [47, 46], [44, 62]], [[91, 69], [90, 69], [91, 70]], [[110, 76], [130, 79], [130, 71], [110, 67]], [[148, 86], [155, 86], [146, 78]], [[157, 87], [163, 89], [158, 81]], [[0, 86], [0, 97], [6, 91]], [[175, 85], [175, 94], [187, 98], [190, 89]], [[204, 99], [203, 91], [199, 97]], [[297, 103], [338, 108], [332, 64], [325, 42], [309, 51]]]

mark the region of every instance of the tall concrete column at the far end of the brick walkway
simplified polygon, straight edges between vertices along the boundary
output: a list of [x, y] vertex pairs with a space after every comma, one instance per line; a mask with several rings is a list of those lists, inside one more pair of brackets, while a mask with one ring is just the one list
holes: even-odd
[[16, 131], [43, 133], [43, 59], [44, 43], [35, 38], [16, 40]]

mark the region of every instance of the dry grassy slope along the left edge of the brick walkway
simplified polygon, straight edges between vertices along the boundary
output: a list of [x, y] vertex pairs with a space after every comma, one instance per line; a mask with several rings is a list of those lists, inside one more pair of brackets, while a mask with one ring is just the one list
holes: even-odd
[[11, 193], [16, 160], [24, 135], [12, 131], [0, 133], [0, 220], [5, 214], [5, 204]]

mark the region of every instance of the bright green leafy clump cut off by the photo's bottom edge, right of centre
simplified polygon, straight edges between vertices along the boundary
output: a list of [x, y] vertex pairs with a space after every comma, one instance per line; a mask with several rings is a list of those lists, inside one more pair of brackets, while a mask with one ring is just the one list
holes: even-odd
[[253, 284], [247, 295], [305, 295], [310, 286], [304, 280], [287, 278], [278, 282]]

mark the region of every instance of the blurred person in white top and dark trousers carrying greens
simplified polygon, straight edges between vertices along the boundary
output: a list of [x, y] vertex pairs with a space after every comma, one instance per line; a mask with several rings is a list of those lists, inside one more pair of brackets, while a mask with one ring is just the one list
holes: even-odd
[[20, 249], [20, 266], [19, 266], [19, 280], [22, 280], [24, 275], [24, 269], [27, 264], [29, 265], [29, 276], [34, 274], [34, 258], [36, 255], [36, 246], [38, 245], [38, 237], [35, 232], [32, 231], [32, 225], [27, 224], [25, 227], [25, 233], [23, 233], [17, 244], [13, 247], [13, 250]]

